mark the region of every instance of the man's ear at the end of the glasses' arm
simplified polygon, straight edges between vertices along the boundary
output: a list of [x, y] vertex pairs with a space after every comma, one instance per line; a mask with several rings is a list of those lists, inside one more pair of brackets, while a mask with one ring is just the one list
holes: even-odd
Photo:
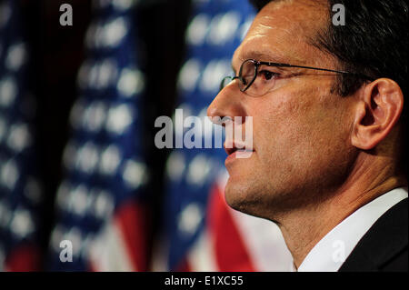
[[393, 80], [380, 78], [364, 87], [355, 110], [352, 145], [373, 149], [391, 132], [404, 108], [404, 94]]

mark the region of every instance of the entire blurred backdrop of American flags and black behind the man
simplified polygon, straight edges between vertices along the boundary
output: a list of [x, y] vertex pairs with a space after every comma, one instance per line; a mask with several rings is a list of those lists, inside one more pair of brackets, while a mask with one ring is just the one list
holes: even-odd
[[[205, 123], [176, 138], [193, 129], [203, 146], [214, 141], [206, 109], [233, 74], [254, 18], [247, 0], [40, 3], [0, 1], [1, 269], [290, 269], [276, 225], [225, 205], [221, 144], [154, 143], [155, 118], [175, 121], [176, 108]], [[72, 27], [58, 24], [63, 3]]]

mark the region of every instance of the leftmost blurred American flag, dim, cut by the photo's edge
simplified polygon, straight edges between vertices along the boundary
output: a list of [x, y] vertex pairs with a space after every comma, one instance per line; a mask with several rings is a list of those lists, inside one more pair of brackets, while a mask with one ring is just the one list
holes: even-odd
[[0, 270], [39, 270], [43, 193], [29, 49], [14, 0], [0, 1]]

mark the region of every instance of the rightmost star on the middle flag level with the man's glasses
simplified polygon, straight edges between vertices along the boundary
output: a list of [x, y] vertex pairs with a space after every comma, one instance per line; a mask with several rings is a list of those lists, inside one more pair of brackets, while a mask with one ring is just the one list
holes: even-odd
[[119, 77], [117, 89], [126, 97], [137, 95], [145, 87], [144, 75], [138, 69], [124, 68]]

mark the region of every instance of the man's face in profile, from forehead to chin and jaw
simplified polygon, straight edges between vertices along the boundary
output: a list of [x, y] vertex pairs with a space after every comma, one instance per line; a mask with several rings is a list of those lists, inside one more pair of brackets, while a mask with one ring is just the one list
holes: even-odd
[[[248, 58], [337, 69], [333, 58], [308, 43], [329, 17], [324, 5], [311, 3], [266, 5], [234, 53], [235, 72]], [[253, 154], [230, 156], [225, 162], [226, 202], [247, 214], [274, 219], [294, 207], [313, 204], [344, 181], [356, 155], [350, 143], [356, 100], [332, 93], [334, 73], [270, 69], [281, 76], [267, 94], [242, 93], [235, 80], [214, 98], [208, 115], [243, 120], [253, 116]]]

